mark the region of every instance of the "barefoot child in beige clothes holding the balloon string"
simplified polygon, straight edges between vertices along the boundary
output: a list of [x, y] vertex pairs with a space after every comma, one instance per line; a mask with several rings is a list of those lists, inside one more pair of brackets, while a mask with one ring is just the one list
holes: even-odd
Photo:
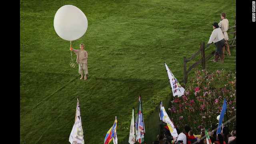
[[[84, 50], [84, 44], [80, 44], [80, 50], [76, 50], [70, 46], [70, 50], [73, 50], [76, 53], [76, 62], [78, 63], [79, 66], [79, 71], [78, 73], [81, 74], [80, 80], [84, 78], [84, 80], [87, 79], [86, 74], [88, 74], [88, 69], [87, 69], [87, 58], [88, 58], [88, 53], [86, 50]], [[84, 72], [84, 77], [83, 77], [83, 72]]]

